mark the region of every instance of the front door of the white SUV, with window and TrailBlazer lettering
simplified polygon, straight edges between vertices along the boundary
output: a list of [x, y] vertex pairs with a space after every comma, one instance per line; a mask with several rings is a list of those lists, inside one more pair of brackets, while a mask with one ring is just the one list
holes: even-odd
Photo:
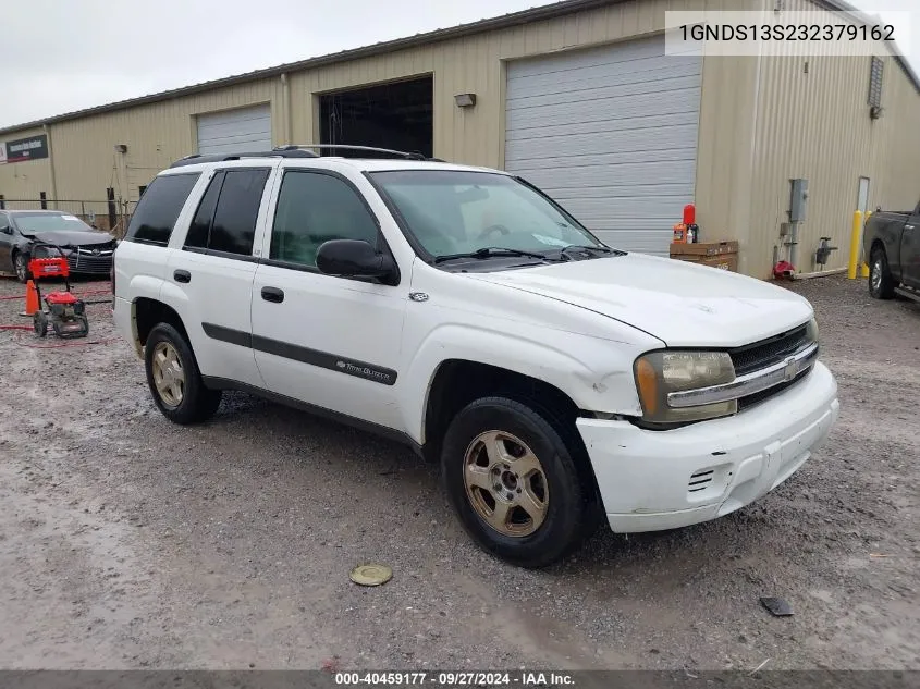
[[396, 369], [405, 291], [316, 268], [317, 249], [329, 239], [388, 250], [373, 213], [344, 177], [287, 169], [271, 217], [253, 285], [253, 348], [267, 387], [402, 430]]

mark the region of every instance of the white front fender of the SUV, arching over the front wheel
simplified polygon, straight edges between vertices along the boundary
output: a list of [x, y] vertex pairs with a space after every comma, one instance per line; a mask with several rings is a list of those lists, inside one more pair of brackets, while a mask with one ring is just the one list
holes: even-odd
[[431, 383], [444, 361], [462, 359], [536, 378], [565, 393], [579, 408], [641, 415], [633, 378], [639, 346], [582, 334], [517, 330], [508, 333], [467, 324], [436, 328], [415, 350], [404, 380], [404, 423], [424, 442]]

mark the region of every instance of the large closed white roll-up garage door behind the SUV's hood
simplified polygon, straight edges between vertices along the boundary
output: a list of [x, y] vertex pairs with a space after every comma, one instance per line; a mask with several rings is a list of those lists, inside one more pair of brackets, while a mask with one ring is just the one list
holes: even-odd
[[666, 256], [694, 200], [701, 74], [663, 36], [512, 62], [505, 169], [611, 246]]

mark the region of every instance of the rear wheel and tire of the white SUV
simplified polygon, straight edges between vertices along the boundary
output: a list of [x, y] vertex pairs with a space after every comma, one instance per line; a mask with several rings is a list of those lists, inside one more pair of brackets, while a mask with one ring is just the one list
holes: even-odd
[[173, 325], [159, 323], [150, 331], [144, 364], [154, 403], [173, 423], [206, 421], [218, 410], [221, 391], [205, 386], [192, 347]]

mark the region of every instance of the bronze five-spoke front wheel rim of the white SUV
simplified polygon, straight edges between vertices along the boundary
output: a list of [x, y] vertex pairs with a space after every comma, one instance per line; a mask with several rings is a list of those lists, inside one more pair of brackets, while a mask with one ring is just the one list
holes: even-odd
[[543, 466], [519, 438], [487, 431], [467, 447], [466, 495], [476, 514], [504, 536], [533, 533], [547, 518], [550, 492]]

